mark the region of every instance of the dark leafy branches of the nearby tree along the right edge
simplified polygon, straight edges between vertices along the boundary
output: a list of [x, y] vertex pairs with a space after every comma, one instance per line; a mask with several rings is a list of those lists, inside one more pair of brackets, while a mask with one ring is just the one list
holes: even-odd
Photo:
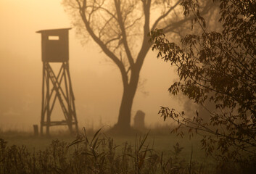
[[[157, 57], [177, 67], [179, 80], [171, 94], [182, 93], [197, 104], [215, 104], [210, 120], [200, 112], [187, 117], [184, 112], [162, 107], [160, 113], [178, 122], [179, 128], [202, 133], [202, 146], [216, 157], [250, 160], [256, 154], [256, 10], [255, 1], [220, 0], [220, 32], [208, 30], [194, 0], [183, 0], [184, 14], [194, 14], [201, 35], [186, 35], [181, 46], [168, 41], [162, 30], [151, 32]], [[207, 109], [207, 108], [206, 108]], [[179, 129], [174, 129], [183, 135]], [[241, 152], [241, 153], [240, 153]]]

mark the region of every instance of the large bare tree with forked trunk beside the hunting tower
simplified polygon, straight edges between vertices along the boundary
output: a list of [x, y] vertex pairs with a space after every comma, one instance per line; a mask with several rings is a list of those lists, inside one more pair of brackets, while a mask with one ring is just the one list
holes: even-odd
[[[201, 14], [206, 14], [212, 1], [202, 2]], [[63, 0], [78, 33], [84, 38], [90, 36], [120, 70], [123, 97], [115, 130], [131, 128], [139, 74], [152, 46], [150, 30], [163, 28], [165, 33], [177, 34], [193, 19], [183, 16], [180, 3], [181, 0]]]

